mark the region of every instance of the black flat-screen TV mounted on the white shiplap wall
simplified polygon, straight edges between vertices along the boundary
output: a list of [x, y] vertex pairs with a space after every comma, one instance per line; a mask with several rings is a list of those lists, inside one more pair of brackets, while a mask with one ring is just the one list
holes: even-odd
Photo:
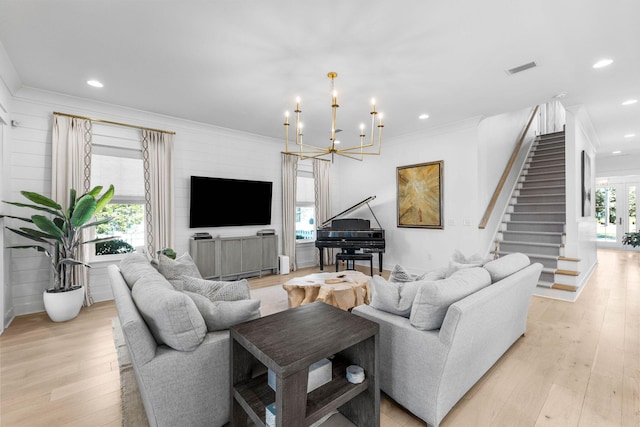
[[191, 177], [189, 227], [271, 224], [273, 183]]

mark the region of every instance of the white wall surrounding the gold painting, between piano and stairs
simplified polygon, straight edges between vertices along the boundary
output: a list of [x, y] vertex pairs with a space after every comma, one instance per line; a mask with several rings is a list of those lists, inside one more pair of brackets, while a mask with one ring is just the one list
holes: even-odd
[[[400, 264], [410, 271], [426, 271], [447, 265], [455, 249], [467, 256], [484, 249], [479, 244], [483, 231], [478, 229], [484, 212], [477, 191], [479, 120], [396, 138], [383, 145], [380, 156], [363, 162], [336, 160], [340, 185], [334, 191], [334, 211], [376, 196], [371, 208], [385, 229], [385, 269]], [[397, 227], [396, 168], [438, 160], [444, 161], [444, 229]], [[376, 224], [366, 206], [350, 216]]]

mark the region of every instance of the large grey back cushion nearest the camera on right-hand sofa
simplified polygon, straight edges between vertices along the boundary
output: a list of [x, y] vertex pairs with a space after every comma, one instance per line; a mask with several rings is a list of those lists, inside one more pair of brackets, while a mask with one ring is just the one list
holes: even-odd
[[481, 267], [456, 271], [447, 279], [423, 282], [413, 301], [409, 321], [416, 329], [440, 329], [451, 304], [490, 284], [489, 272]]

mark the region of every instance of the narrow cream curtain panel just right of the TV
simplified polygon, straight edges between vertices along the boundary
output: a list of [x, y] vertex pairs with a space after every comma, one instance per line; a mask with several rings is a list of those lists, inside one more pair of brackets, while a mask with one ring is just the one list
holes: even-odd
[[298, 157], [282, 153], [282, 252], [296, 270], [296, 181]]

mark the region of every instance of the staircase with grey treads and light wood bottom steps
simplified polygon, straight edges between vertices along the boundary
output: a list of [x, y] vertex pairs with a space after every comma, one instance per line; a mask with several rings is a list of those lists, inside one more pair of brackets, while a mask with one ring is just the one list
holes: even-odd
[[544, 268], [539, 287], [575, 292], [579, 259], [564, 253], [565, 135], [539, 135], [496, 236], [494, 254], [522, 252]]

